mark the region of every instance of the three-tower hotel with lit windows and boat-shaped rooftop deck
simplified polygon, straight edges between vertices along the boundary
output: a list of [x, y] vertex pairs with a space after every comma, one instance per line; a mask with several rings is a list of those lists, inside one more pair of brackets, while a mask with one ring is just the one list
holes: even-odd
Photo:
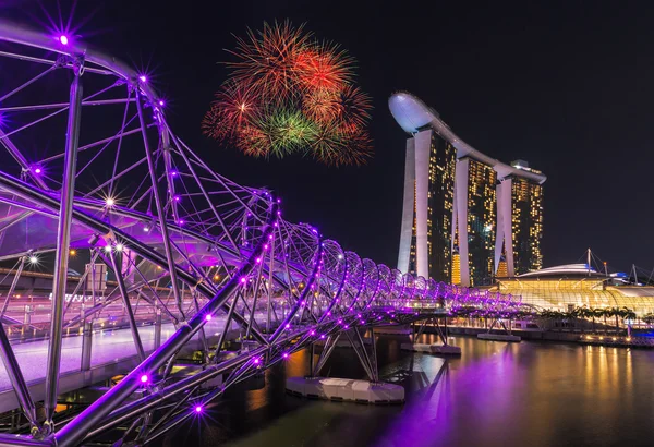
[[476, 150], [415, 96], [389, 99], [407, 140], [398, 269], [461, 286], [542, 268], [543, 183]]

